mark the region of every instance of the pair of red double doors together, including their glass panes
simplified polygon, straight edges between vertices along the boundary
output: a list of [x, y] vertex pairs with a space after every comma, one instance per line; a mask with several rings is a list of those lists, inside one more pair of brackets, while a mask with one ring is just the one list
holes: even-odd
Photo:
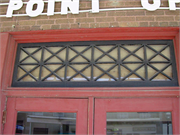
[[[23, 132], [18, 131], [21, 134], [168, 135], [179, 132], [178, 98], [92, 99], [93, 104], [88, 107], [88, 99], [9, 98], [4, 134], [15, 134], [21, 128], [24, 128]], [[88, 131], [90, 126], [94, 127], [92, 133]]]

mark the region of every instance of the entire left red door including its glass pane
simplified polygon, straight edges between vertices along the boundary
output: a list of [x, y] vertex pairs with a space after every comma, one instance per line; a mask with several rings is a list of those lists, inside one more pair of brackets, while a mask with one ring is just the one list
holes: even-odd
[[9, 98], [4, 134], [87, 134], [88, 99]]

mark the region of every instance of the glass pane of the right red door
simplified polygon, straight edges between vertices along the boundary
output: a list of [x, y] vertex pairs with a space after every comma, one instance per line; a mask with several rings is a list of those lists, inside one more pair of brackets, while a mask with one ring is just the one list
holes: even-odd
[[107, 135], [172, 135], [171, 112], [108, 112]]

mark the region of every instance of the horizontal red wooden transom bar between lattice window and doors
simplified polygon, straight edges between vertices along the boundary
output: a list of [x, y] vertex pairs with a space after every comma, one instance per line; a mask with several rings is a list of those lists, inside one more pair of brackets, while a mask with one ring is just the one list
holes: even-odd
[[131, 89], [120, 89], [114, 88], [84, 88], [84, 89], [53, 89], [46, 90], [43, 88], [34, 90], [6, 90], [4, 93], [9, 97], [177, 97], [180, 96], [179, 88], [176, 90], [161, 90], [153, 88], [147, 90], [131, 90]]

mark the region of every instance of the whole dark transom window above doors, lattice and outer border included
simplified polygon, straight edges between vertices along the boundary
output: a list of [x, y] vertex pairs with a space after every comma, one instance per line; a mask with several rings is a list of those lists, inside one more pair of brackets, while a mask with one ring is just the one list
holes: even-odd
[[12, 86], [176, 86], [172, 41], [19, 44]]

